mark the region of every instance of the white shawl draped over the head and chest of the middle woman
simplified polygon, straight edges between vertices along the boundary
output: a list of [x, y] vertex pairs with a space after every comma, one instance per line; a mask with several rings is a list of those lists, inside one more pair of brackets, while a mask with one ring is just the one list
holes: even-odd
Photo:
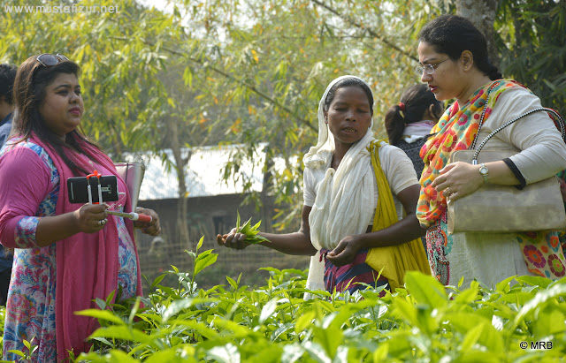
[[[346, 78], [341, 76], [334, 79], [318, 103], [318, 141], [310, 147], [302, 161], [305, 169], [326, 169], [325, 178], [317, 189], [312, 210], [310, 211], [310, 241], [318, 251], [321, 248], [333, 249], [342, 238], [365, 233], [371, 224], [373, 215], [373, 195], [375, 182], [371, 155], [367, 147], [373, 139], [373, 120], [362, 140], [352, 145], [337, 170], [330, 168], [334, 150], [334, 137], [328, 132], [325, 123], [325, 100], [333, 85]], [[310, 259], [307, 288], [325, 290], [324, 261], [319, 261], [319, 253]], [[308, 296], [305, 296], [308, 299]]]

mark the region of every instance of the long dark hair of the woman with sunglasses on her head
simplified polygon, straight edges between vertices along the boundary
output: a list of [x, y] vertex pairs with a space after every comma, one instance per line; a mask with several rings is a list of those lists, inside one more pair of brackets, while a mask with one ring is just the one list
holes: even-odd
[[89, 142], [78, 129], [74, 129], [65, 135], [62, 140], [55, 132], [45, 124], [39, 111], [42, 101], [45, 99], [45, 90], [59, 74], [74, 74], [79, 76], [80, 67], [71, 61], [64, 61], [56, 65], [45, 67], [37, 61], [37, 56], [32, 56], [22, 63], [16, 74], [14, 82], [14, 101], [16, 103], [16, 113], [13, 119], [13, 133], [22, 136], [22, 140], [28, 140], [35, 133], [39, 140], [42, 140], [53, 152], [59, 155], [64, 163], [73, 170], [75, 175], [88, 174], [88, 170], [80, 167], [66, 153], [69, 150], [77, 150], [81, 154], [93, 156], [85, 147], [81, 147], [86, 142], [92, 147], [98, 148]]

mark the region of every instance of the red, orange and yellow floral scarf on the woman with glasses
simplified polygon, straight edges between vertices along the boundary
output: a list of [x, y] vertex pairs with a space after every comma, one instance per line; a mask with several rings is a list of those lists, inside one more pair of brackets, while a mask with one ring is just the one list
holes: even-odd
[[[420, 152], [424, 160], [424, 172], [420, 179], [422, 187], [417, 204], [417, 218], [422, 226], [429, 229], [429, 261], [434, 274], [444, 284], [449, 281], [446, 256], [452, 250], [453, 239], [447, 234], [447, 200], [443, 193], [437, 193], [431, 184], [440, 175], [440, 170], [447, 165], [450, 155], [456, 150], [468, 149], [476, 138], [479, 119], [490, 87], [492, 91], [486, 105], [484, 122], [491, 115], [501, 92], [511, 87], [524, 86], [514, 80], [500, 79], [478, 89], [462, 108], [455, 102], [432, 129], [432, 133], [437, 133], [424, 144]], [[563, 174], [561, 172], [558, 175], [563, 178]], [[565, 237], [563, 231], [533, 231], [517, 233], [516, 240], [527, 268], [532, 273], [557, 278], [566, 275], [566, 259], [562, 250]]]

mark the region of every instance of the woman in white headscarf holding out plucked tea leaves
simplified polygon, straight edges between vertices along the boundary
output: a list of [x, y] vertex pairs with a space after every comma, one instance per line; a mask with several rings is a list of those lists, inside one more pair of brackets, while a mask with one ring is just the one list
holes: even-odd
[[[301, 228], [260, 233], [269, 239], [262, 246], [316, 254], [307, 282], [312, 290], [395, 288], [407, 269], [430, 273], [418, 239], [424, 230], [415, 216], [415, 171], [401, 149], [374, 140], [372, 116], [373, 95], [363, 79], [342, 76], [328, 85], [318, 105], [317, 145], [303, 158]], [[245, 238], [233, 229], [217, 240], [242, 249]]]

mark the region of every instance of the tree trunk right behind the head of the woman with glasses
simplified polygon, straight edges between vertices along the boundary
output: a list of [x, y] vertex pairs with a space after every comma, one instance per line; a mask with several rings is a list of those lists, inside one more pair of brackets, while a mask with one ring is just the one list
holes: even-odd
[[[489, 59], [499, 66], [497, 49], [493, 42], [493, 23], [498, 0], [456, 0], [456, 14], [469, 19], [473, 25], [486, 35]], [[478, 11], [479, 10], [479, 11]]]

